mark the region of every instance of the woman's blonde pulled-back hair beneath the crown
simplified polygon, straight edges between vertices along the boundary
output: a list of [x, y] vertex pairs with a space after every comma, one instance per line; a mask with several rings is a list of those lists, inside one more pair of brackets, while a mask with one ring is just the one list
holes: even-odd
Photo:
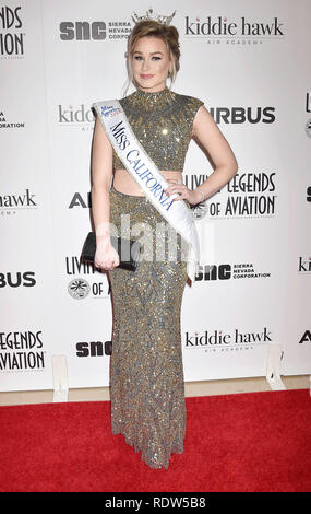
[[128, 81], [124, 89], [125, 96], [130, 85], [134, 84], [134, 77], [132, 71], [132, 57], [134, 52], [135, 45], [141, 37], [154, 36], [163, 39], [166, 44], [167, 50], [170, 57], [170, 70], [168, 72], [168, 78], [170, 79], [170, 86], [176, 80], [177, 72], [179, 71], [180, 65], [180, 50], [179, 50], [179, 33], [178, 30], [172, 25], [163, 25], [162, 23], [156, 22], [155, 20], [146, 20], [135, 24], [133, 27], [130, 37], [128, 39], [128, 50], [125, 52], [127, 57], [127, 70], [128, 70]]

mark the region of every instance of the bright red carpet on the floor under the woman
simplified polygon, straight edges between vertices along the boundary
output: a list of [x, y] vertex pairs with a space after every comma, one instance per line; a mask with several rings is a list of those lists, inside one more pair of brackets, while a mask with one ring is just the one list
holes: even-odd
[[110, 432], [110, 402], [0, 408], [1, 491], [311, 490], [308, 389], [187, 398], [182, 455], [149, 469]]

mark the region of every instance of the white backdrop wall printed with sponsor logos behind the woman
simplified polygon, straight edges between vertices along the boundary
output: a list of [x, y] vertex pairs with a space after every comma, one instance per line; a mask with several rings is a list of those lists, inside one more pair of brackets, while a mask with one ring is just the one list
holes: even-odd
[[[80, 262], [91, 223], [93, 102], [123, 95], [132, 15], [149, 3], [0, 3], [0, 389], [107, 386], [112, 313], [105, 272]], [[180, 33], [172, 90], [204, 101], [238, 175], [196, 221], [207, 237], [182, 303], [187, 382], [311, 373], [309, 0], [155, 1]], [[130, 90], [130, 94], [134, 89]], [[190, 188], [213, 172], [191, 141]], [[212, 241], [213, 240], [213, 241]]]

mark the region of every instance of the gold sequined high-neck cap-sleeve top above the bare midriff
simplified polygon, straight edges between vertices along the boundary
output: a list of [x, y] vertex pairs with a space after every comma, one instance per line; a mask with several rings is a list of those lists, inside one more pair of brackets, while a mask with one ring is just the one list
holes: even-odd
[[[137, 89], [119, 102], [134, 135], [156, 166], [160, 171], [182, 172], [193, 119], [203, 102], [175, 93], [167, 86], [156, 93]], [[113, 168], [124, 168], [115, 150]]]

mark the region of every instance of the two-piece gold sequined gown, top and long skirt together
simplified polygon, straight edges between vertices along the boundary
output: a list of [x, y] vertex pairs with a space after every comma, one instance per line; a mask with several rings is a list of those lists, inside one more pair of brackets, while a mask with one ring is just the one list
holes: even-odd
[[[182, 171], [193, 118], [203, 102], [168, 87], [156, 93], [137, 89], [119, 102], [158, 170]], [[124, 167], [115, 150], [113, 167]], [[127, 195], [112, 185], [110, 222], [119, 234], [122, 220], [122, 237], [137, 238], [147, 233], [149, 244], [144, 246], [145, 257], [135, 271], [118, 267], [109, 271], [113, 318], [111, 431], [123, 434], [135, 452], [142, 452], [151, 468], [167, 469], [171, 454], [183, 452], [186, 435], [180, 332], [187, 281], [184, 246], [145, 196]], [[148, 232], [133, 234], [136, 223], [146, 224]], [[166, 226], [168, 232], [163, 231], [162, 236], [157, 232], [156, 236], [157, 226]], [[169, 256], [169, 231], [175, 232], [177, 241], [174, 260]], [[157, 260], [156, 249], [164, 252], [165, 259]]]

